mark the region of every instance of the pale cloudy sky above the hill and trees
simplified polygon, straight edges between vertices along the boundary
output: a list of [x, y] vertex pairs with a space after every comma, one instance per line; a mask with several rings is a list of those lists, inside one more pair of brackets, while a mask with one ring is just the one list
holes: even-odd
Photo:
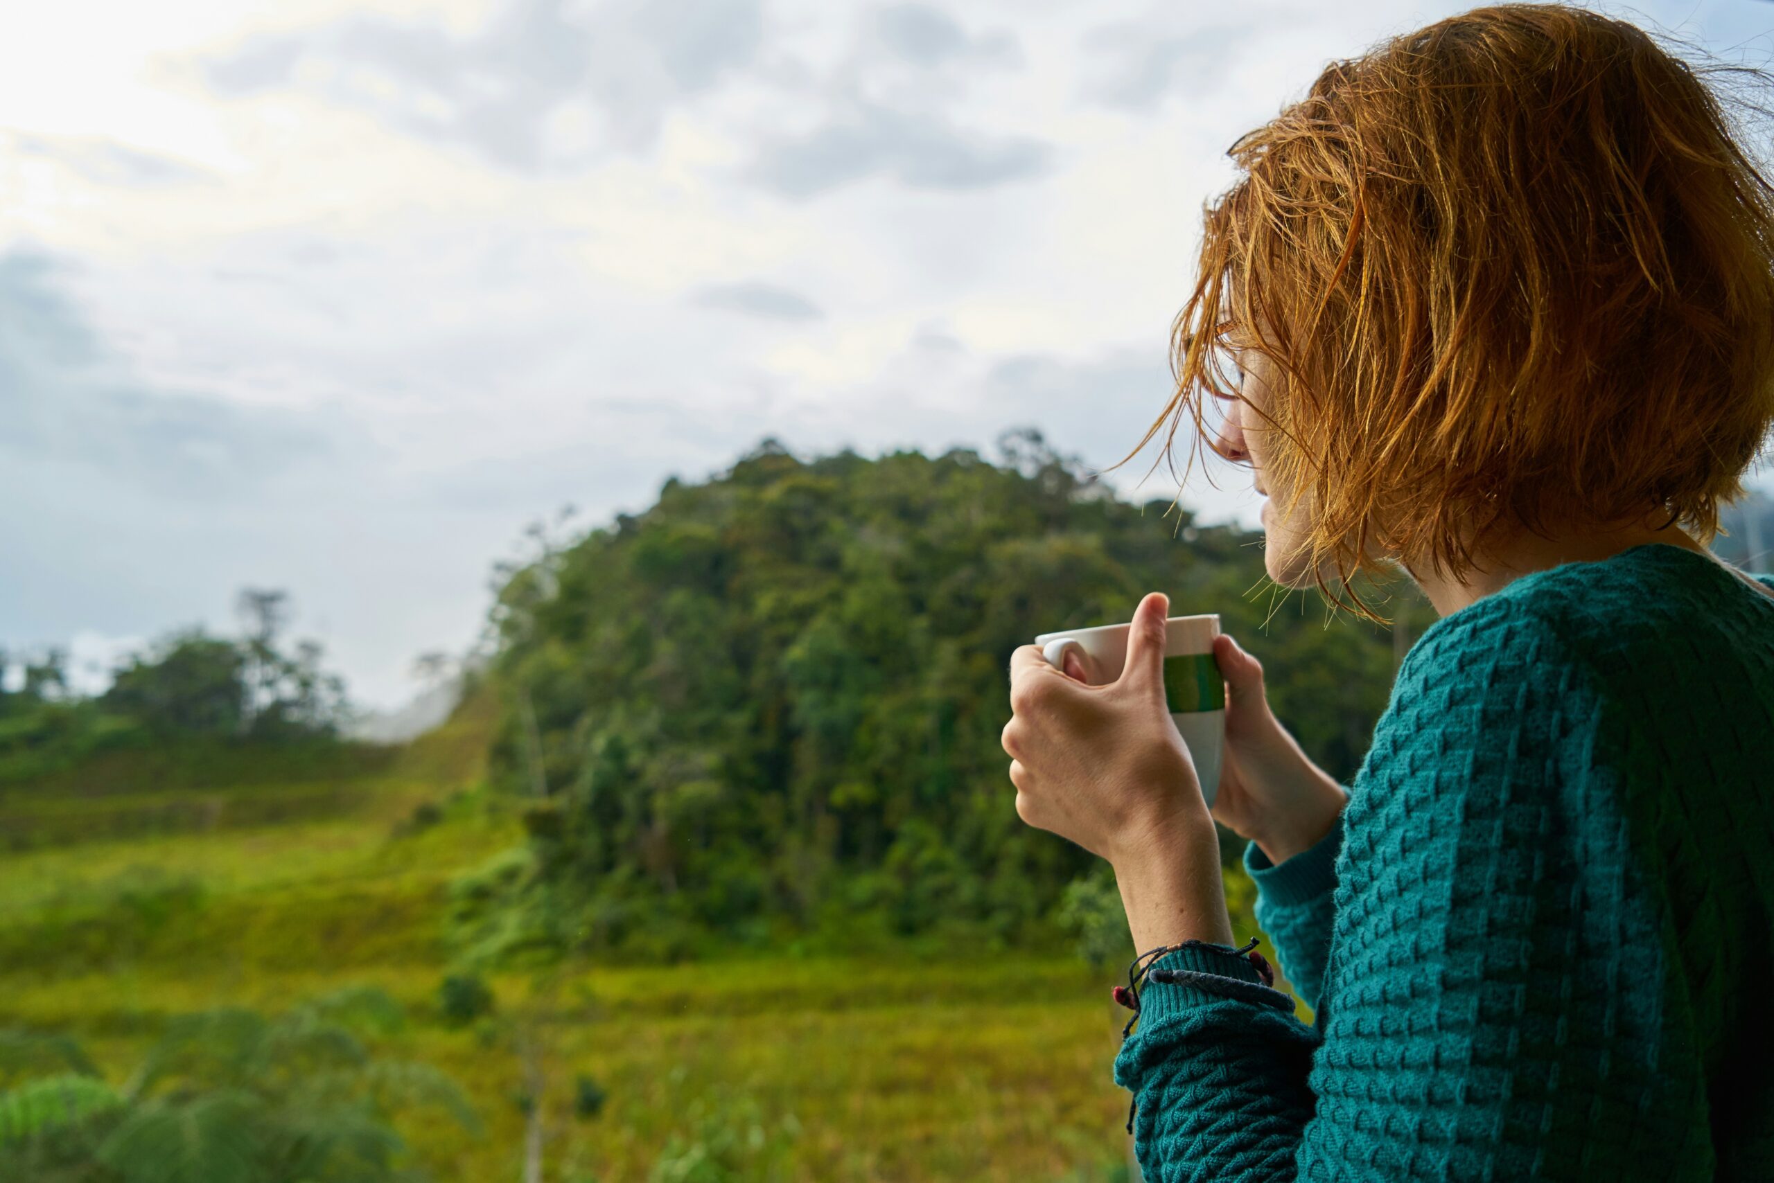
[[[1469, 5], [62, 0], [0, 39], [0, 646], [287, 589], [353, 697], [761, 438], [1105, 468], [1224, 153]], [[1595, 5], [1731, 60], [1760, 0]], [[1176, 493], [1155, 452], [1111, 474]], [[1137, 486], [1137, 490], [1135, 490]], [[1215, 488], [1217, 486], [1217, 488]], [[1249, 475], [1183, 504], [1256, 523]], [[562, 521], [562, 507], [575, 514]]]

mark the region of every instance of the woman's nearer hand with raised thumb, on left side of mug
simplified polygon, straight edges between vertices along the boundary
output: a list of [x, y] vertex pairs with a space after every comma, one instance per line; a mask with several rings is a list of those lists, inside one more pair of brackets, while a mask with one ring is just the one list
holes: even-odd
[[1009, 663], [1004, 750], [1017, 816], [1118, 866], [1213, 834], [1164, 701], [1167, 612], [1162, 592], [1139, 601], [1126, 665], [1103, 686], [1054, 669], [1038, 646]]

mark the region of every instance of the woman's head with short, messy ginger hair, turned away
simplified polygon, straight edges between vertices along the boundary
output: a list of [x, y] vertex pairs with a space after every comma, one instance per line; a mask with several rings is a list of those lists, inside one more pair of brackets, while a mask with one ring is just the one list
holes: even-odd
[[1290, 585], [1653, 509], [1710, 539], [1774, 422], [1774, 188], [1714, 78], [1762, 82], [1550, 4], [1334, 62], [1231, 149], [1146, 440], [1226, 401]]

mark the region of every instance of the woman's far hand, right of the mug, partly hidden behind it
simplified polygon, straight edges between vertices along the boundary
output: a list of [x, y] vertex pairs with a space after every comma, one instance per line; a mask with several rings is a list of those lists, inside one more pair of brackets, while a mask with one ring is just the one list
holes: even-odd
[[1226, 679], [1213, 819], [1254, 841], [1270, 862], [1284, 862], [1330, 832], [1348, 795], [1268, 709], [1263, 665], [1224, 633], [1213, 639], [1213, 660]]

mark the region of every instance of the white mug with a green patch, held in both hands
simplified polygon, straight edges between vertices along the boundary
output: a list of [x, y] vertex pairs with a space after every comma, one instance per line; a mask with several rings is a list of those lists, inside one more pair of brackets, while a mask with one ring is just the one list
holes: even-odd
[[[1041, 633], [1034, 644], [1054, 669], [1064, 669], [1066, 651], [1084, 656], [1084, 672], [1093, 686], [1116, 681], [1126, 665], [1126, 635], [1132, 624], [1073, 628]], [[1164, 697], [1171, 722], [1183, 736], [1201, 796], [1213, 807], [1219, 793], [1221, 748], [1226, 745], [1226, 683], [1213, 660], [1219, 615], [1173, 615], [1164, 623]]]

